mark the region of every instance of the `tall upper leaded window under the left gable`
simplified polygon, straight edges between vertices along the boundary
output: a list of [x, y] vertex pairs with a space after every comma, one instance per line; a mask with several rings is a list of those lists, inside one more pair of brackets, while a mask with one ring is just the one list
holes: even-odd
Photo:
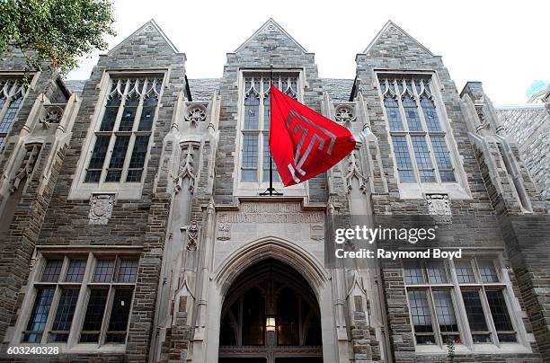
[[112, 78], [84, 182], [141, 182], [163, 76]]

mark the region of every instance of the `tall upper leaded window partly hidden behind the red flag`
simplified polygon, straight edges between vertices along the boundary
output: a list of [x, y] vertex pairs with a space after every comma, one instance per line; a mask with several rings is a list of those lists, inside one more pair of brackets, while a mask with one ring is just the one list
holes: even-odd
[[[241, 182], [270, 180], [270, 74], [244, 74], [241, 143]], [[298, 75], [275, 73], [273, 84], [289, 97], [298, 99]], [[272, 164], [273, 181], [279, 182]]]

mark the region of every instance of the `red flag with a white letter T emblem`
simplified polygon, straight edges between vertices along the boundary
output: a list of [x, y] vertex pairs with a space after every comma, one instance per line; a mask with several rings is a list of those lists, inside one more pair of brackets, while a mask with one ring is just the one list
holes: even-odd
[[286, 187], [324, 173], [355, 148], [348, 128], [281, 93], [271, 84], [270, 149]]

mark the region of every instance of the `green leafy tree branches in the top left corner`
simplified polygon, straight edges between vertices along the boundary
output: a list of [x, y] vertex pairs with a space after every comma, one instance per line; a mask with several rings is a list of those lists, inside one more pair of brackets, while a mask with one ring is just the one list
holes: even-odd
[[111, 0], [0, 0], [0, 54], [21, 49], [28, 70], [66, 75], [115, 35]]

